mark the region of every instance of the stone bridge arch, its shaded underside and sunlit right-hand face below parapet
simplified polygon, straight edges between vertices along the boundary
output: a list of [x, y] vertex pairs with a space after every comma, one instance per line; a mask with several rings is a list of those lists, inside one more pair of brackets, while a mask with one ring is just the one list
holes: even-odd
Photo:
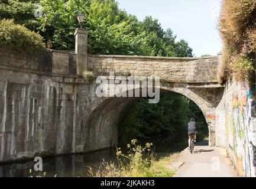
[[[209, 128], [209, 145], [215, 145], [215, 107], [218, 105], [216, 89], [191, 87], [187, 83], [160, 83], [160, 93], [173, 92], [186, 96], [202, 110]], [[98, 100], [85, 120], [87, 136], [84, 149], [116, 146], [118, 125], [129, 107], [142, 97], [105, 97]]]

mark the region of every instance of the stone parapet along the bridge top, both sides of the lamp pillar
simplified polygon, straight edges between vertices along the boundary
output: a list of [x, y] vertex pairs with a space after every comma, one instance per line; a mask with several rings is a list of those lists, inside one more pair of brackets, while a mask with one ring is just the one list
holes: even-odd
[[[74, 52], [44, 50], [31, 55], [1, 48], [0, 65], [48, 73], [76, 75]], [[218, 57], [177, 58], [141, 56], [88, 56], [88, 70], [96, 75], [159, 76], [165, 82], [217, 82]]]

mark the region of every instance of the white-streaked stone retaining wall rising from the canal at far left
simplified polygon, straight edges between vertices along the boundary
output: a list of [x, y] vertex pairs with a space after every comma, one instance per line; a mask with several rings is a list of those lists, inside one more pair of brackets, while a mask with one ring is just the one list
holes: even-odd
[[47, 76], [0, 74], [0, 161], [73, 152], [73, 93]]

